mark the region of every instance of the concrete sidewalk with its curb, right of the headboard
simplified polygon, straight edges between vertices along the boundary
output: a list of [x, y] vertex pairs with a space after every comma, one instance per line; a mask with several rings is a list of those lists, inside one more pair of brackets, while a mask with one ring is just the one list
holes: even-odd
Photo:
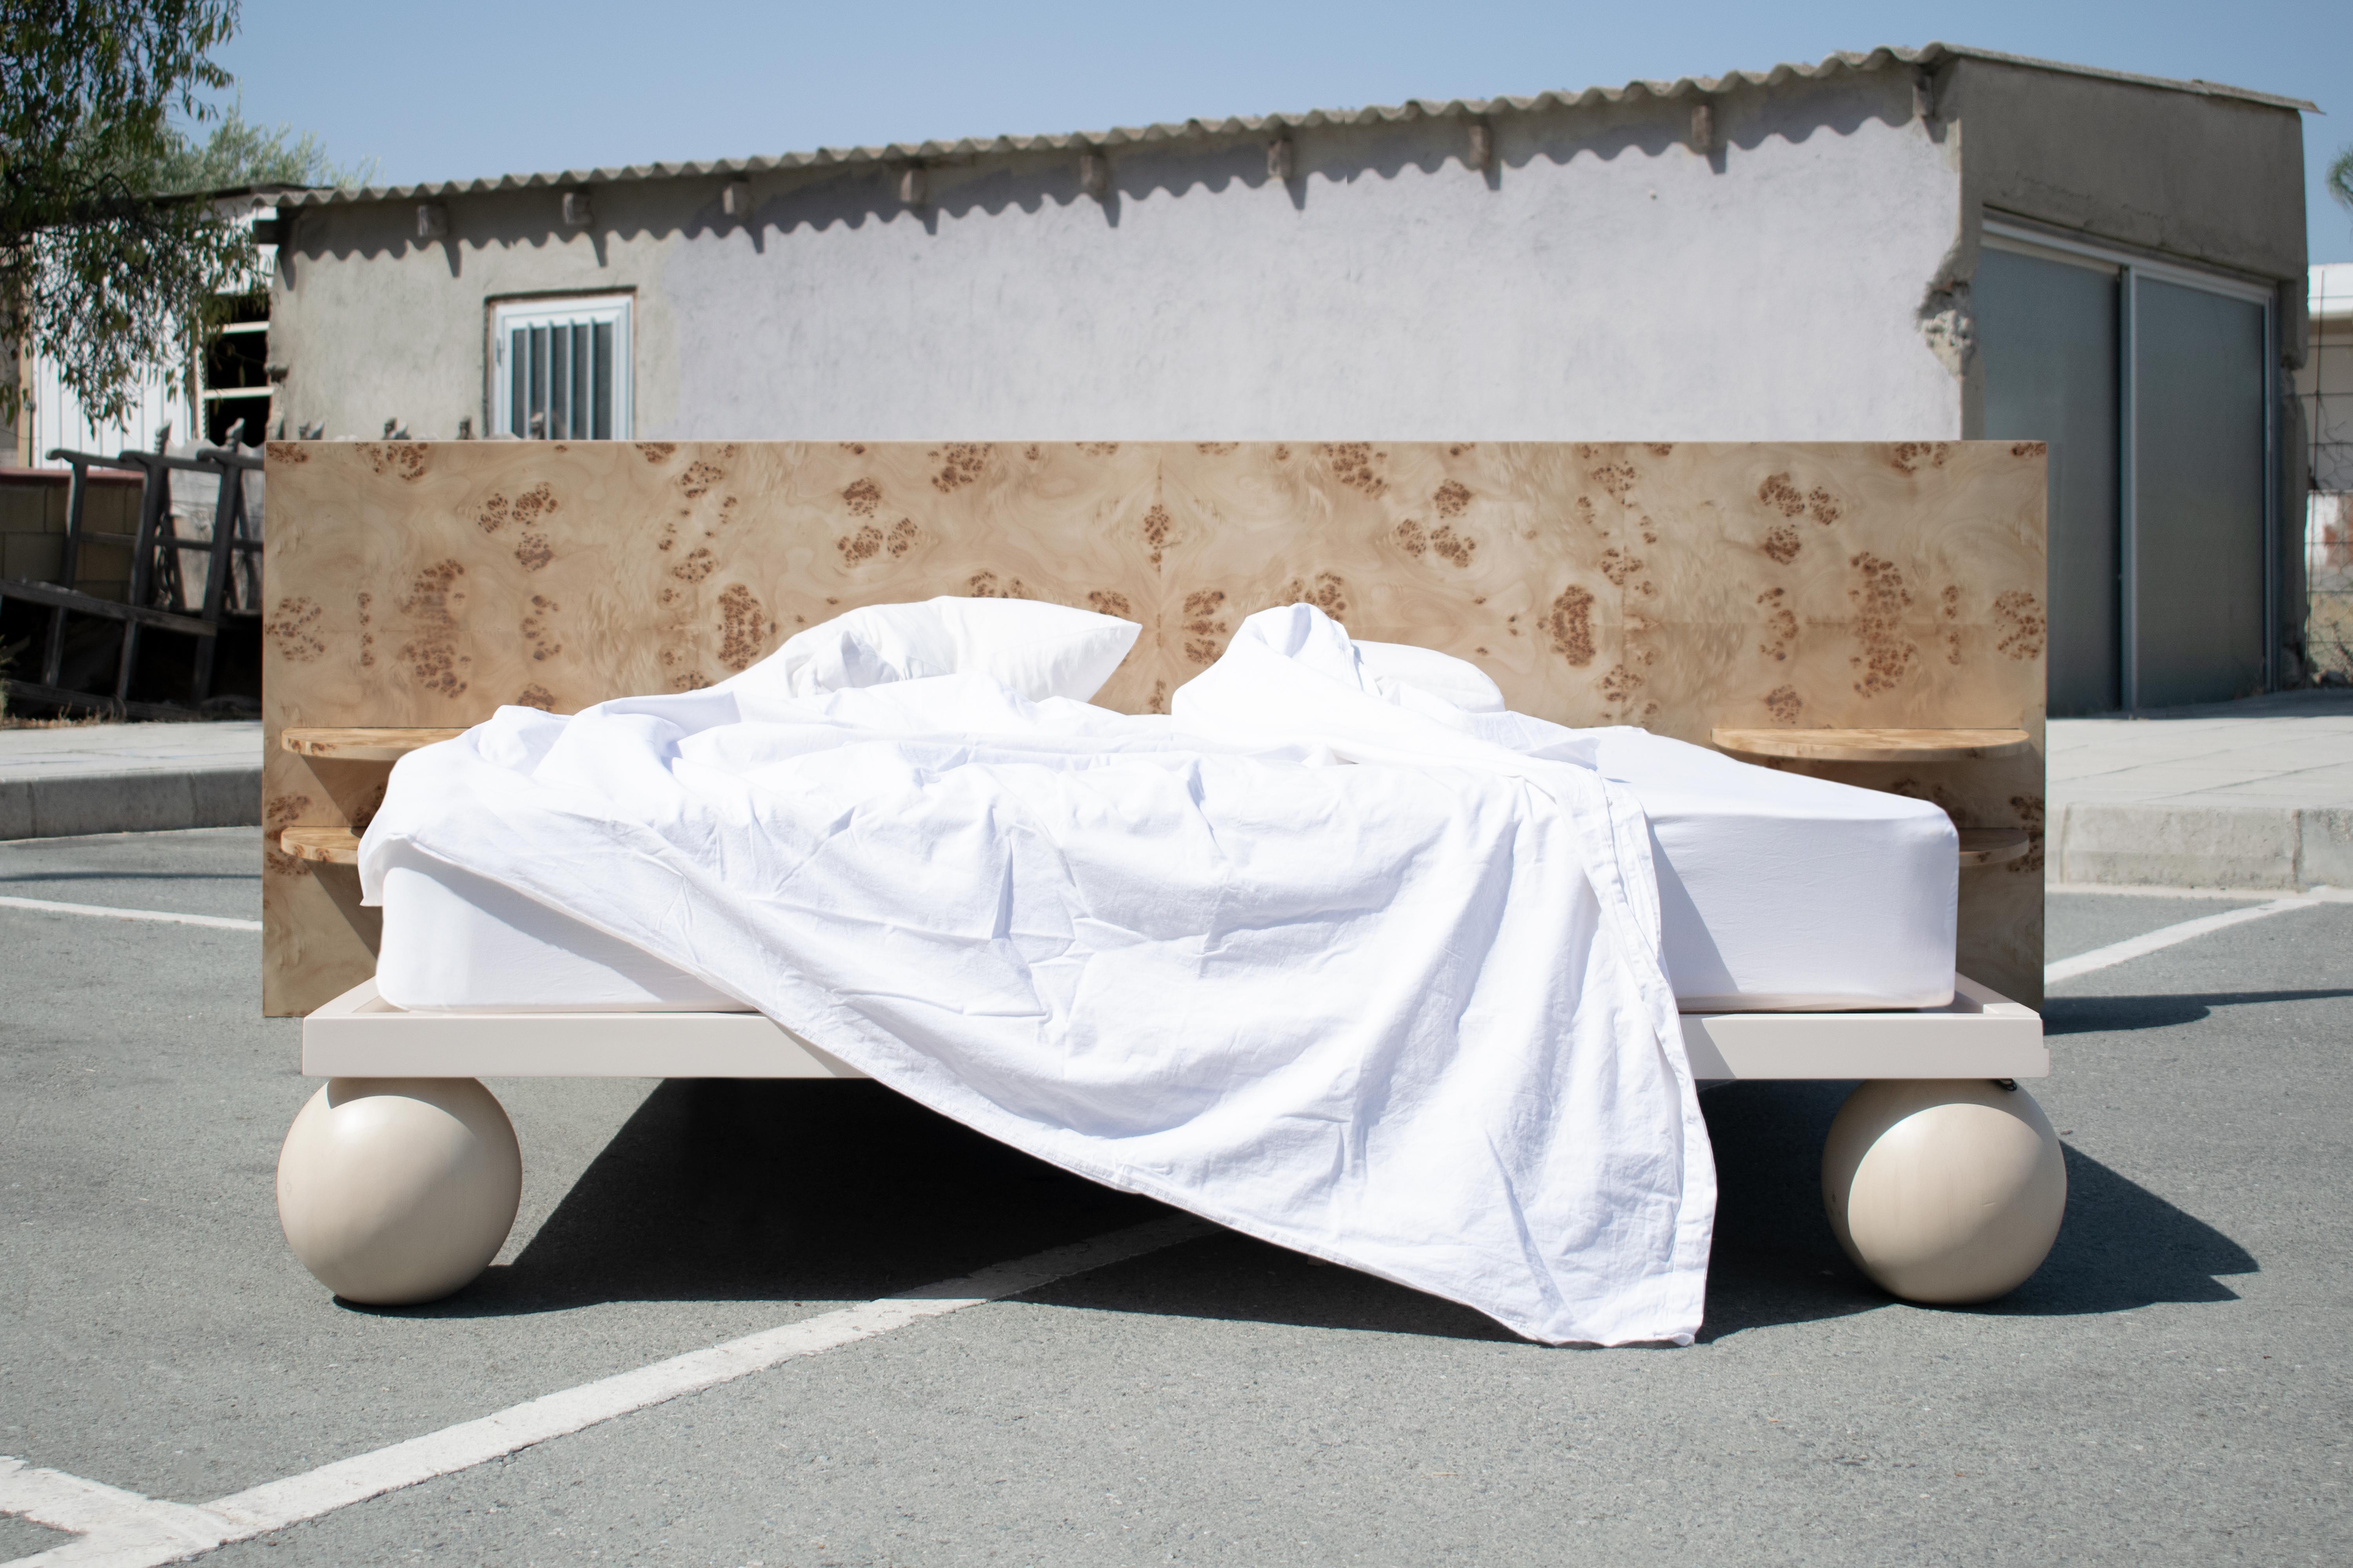
[[2353, 886], [2353, 691], [2049, 722], [2054, 884]]

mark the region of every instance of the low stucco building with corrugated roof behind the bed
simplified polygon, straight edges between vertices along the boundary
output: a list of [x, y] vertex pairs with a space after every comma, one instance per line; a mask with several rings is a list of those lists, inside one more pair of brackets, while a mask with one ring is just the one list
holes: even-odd
[[287, 437], [2052, 440], [2052, 708], [2304, 675], [2308, 106], [1927, 47], [280, 197]]

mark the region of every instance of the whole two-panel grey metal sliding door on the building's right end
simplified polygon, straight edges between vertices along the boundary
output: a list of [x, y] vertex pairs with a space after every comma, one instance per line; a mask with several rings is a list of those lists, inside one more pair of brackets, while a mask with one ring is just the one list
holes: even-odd
[[2052, 447], [2052, 715], [2261, 691], [2268, 289], [1988, 219], [1972, 296], [1986, 440]]

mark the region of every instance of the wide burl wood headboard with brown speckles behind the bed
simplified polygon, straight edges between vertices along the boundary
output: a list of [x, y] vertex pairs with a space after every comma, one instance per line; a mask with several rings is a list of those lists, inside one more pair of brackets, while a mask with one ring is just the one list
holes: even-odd
[[1136, 621], [1099, 698], [1127, 712], [1308, 599], [1565, 724], [2021, 729], [2017, 757], [1777, 766], [2028, 832], [1962, 879], [1960, 964], [2042, 994], [2040, 444], [280, 442], [268, 475], [271, 1013], [374, 966], [351, 870], [278, 832], [362, 825], [386, 780], [287, 729], [689, 691], [941, 592]]

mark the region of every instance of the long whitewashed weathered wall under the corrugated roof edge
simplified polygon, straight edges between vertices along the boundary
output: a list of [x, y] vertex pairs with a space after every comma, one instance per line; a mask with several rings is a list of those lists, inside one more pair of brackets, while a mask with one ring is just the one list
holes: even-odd
[[1913, 440], [1960, 435], [1922, 301], [1958, 141], [1908, 71], [1685, 101], [1297, 132], [1113, 160], [304, 209], [271, 360], [287, 428], [485, 430], [487, 301], [635, 292], [638, 437]]

